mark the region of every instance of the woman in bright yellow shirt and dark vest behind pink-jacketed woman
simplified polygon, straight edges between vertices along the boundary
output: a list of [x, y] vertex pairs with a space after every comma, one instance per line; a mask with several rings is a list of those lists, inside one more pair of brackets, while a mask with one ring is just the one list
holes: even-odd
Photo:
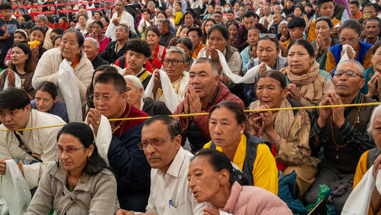
[[223, 101], [210, 110], [211, 141], [205, 148], [225, 153], [247, 176], [249, 184], [278, 194], [278, 169], [264, 139], [245, 131], [245, 114], [235, 101]]

